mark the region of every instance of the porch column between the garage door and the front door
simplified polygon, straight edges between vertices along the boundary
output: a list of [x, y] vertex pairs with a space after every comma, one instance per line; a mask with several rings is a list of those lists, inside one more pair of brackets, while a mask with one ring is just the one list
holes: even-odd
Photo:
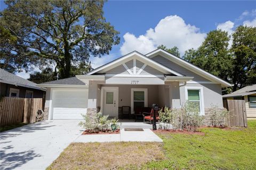
[[91, 116], [97, 113], [97, 92], [98, 92], [98, 82], [89, 81], [89, 91], [88, 91], [88, 107], [87, 115]]

